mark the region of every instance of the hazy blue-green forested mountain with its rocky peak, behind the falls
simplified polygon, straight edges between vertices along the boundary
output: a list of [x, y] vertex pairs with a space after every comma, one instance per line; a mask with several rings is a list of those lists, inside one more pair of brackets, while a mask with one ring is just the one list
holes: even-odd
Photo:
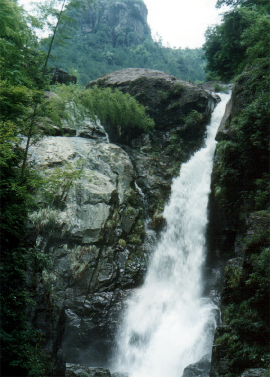
[[52, 49], [52, 66], [90, 80], [123, 68], [150, 68], [182, 80], [203, 81], [202, 48], [174, 49], [154, 42], [141, 0], [81, 1], [67, 9], [69, 27]]

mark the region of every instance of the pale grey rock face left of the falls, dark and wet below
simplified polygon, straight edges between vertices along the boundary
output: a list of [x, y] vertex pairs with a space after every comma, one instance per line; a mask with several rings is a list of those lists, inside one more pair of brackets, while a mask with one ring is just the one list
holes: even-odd
[[[66, 308], [67, 360], [104, 363], [123, 289], [142, 283], [148, 259], [133, 165], [115, 144], [80, 137], [47, 137], [29, 152], [48, 176], [59, 166], [76, 172], [78, 162], [83, 164], [60, 208], [53, 210], [51, 228], [42, 230], [32, 218], [40, 232], [37, 246], [51, 258], [50, 292]], [[137, 208], [131, 205], [135, 202]]]

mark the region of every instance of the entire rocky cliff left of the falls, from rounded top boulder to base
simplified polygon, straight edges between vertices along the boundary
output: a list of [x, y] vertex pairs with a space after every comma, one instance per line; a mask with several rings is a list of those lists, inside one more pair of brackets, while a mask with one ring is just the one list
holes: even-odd
[[[29, 149], [31, 164], [45, 177], [57, 185], [62, 174], [69, 182], [59, 188], [55, 208], [30, 215], [36, 247], [50, 259], [36, 277], [46, 301], [33, 318], [45, 327], [50, 303], [55, 322], [63, 326], [58, 313], [65, 310], [64, 338], [63, 331], [51, 331], [48, 337], [53, 342], [57, 335], [58, 342], [48, 352], [59, 353], [63, 338], [67, 362], [104, 367], [123, 300], [143, 283], [156, 233], [164, 225], [161, 213], [172, 177], [201, 146], [216, 102], [203, 89], [158, 71], [129, 69], [108, 77], [107, 84], [106, 76], [97, 84], [118, 83], [118, 89], [144, 98], [149, 114], [156, 114], [154, 130], [132, 135], [128, 125], [119, 130], [104, 124], [108, 141], [98, 122], [82, 118], [76, 130], [65, 122], [67, 136], [48, 135]], [[194, 111], [198, 121], [190, 124], [186, 117]], [[56, 360], [58, 370], [63, 360]]]

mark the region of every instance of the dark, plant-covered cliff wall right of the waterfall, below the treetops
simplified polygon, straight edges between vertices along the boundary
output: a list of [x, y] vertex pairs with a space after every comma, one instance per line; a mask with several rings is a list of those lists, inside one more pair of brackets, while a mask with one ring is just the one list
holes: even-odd
[[210, 264], [224, 276], [223, 325], [210, 376], [264, 376], [269, 365], [268, 74], [256, 65], [238, 77], [216, 136], [208, 240]]

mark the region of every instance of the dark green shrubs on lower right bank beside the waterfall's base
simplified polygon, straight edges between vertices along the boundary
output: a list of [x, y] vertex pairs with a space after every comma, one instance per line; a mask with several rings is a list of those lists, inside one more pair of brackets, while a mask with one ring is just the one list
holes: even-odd
[[269, 247], [253, 255], [246, 280], [247, 271], [233, 266], [226, 270], [224, 295], [229, 301], [223, 308], [223, 323], [229, 330], [216, 339], [221, 356], [228, 361], [226, 376], [246, 368], [269, 367], [269, 257]]

